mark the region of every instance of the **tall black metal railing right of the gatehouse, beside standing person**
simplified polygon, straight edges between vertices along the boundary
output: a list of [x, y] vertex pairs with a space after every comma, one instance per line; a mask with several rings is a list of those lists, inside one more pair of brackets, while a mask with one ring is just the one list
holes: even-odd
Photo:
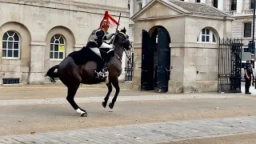
[[241, 93], [242, 39], [218, 42], [218, 92]]

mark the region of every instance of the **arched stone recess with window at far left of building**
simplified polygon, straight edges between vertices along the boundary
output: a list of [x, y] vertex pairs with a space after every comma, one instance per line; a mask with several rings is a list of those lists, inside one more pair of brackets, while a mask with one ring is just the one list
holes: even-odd
[[[7, 34], [9, 33], [9, 34]], [[4, 42], [5, 36], [17, 34], [18, 41]], [[28, 83], [31, 70], [31, 34], [30, 30], [20, 22], [6, 22], [0, 26], [0, 65], [5, 63], [7, 69], [0, 70], [0, 83]], [[14, 36], [14, 35], [13, 35]], [[11, 38], [12, 39], [12, 38]], [[6, 44], [9, 43], [8, 48]], [[16, 47], [17, 46], [17, 47]], [[9, 51], [10, 53], [6, 52]], [[6, 54], [3, 54], [5, 53]], [[16, 53], [16, 54], [15, 54]], [[9, 55], [10, 54], [10, 55]], [[15, 63], [14, 63], [15, 62]], [[19, 66], [18, 66], [19, 65]], [[19, 67], [13, 70], [12, 68]], [[14, 78], [15, 81], [9, 81]], [[6, 81], [6, 82], [3, 82]], [[9, 81], [9, 82], [8, 82]]]

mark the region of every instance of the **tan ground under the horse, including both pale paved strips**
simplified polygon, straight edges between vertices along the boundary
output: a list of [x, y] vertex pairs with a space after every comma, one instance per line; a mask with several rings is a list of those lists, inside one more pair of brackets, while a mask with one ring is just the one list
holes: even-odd
[[[254, 94], [149, 94], [122, 90], [114, 112], [105, 114], [106, 109], [101, 106], [104, 97], [99, 96], [105, 94], [105, 91], [81, 90], [75, 101], [82, 106], [85, 106], [82, 103], [86, 103], [86, 110], [90, 116], [80, 118], [78, 115], [71, 115], [74, 111], [66, 98], [63, 98], [66, 92], [62, 91], [60, 94], [58, 87], [54, 90], [19, 90], [0, 90], [0, 133], [9, 127], [9, 131], [6, 130], [8, 132], [2, 133], [6, 135], [0, 137], [0, 143], [3, 144], [147, 144], [256, 133]], [[34, 97], [37, 92], [39, 96]], [[47, 97], [44, 96], [46, 94]], [[84, 97], [83, 94], [89, 95]], [[58, 114], [58, 118], [55, 114]], [[230, 118], [224, 118], [226, 116]], [[17, 122], [18, 118], [22, 118], [22, 122]], [[81, 120], [85, 122], [79, 122]], [[137, 120], [144, 121], [144, 124], [136, 124]], [[75, 123], [77, 121], [78, 124]], [[100, 126], [90, 128], [90, 122], [98, 123]], [[107, 123], [111, 124], [106, 125]], [[71, 124], [80, 127], [68, 129]], [[60, 126], [59, 129], [57, 125]], [[46, 131], [45, 133], [33, 133], [34, 129], [31, 129], [32, 134], [28, 134], [30, 129], [24, 126], [38, 126], [38, 131], [45, 127], [49, 130], [42, 130]], [[14, 134], [14, 131], [18, 130], [21, 132]]]

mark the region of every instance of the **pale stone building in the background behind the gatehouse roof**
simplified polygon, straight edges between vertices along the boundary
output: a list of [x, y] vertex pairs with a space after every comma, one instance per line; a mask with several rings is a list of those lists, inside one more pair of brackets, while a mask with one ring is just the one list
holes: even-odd
[[[129, 0], [130, 3], [130, 17], [146, 6], [151, 0]], [[175, 0], [174, 0], [175, 1]], [[184, 2], [202, 2], [207, 5], [214, 6], [219, 10], [234, 16], [232, 22], [232, 38], [244, 39], [244, 50], [242, 50], [242, 61], [250, 58], [250, 53], [247, 51], [248, 42], [253, 37], [253, 6], [254, 0], [176, 0]], [[130, 40], [134, 42], [134, 22], [130, 21]]]

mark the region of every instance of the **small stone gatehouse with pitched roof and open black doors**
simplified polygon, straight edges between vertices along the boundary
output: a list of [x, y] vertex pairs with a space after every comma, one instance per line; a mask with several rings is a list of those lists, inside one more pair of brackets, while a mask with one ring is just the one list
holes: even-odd
[[232, 36], [230, 14], [197, 2], [152, 0], [131, 19], [135, 90], [218, 90], [218, 38]]

